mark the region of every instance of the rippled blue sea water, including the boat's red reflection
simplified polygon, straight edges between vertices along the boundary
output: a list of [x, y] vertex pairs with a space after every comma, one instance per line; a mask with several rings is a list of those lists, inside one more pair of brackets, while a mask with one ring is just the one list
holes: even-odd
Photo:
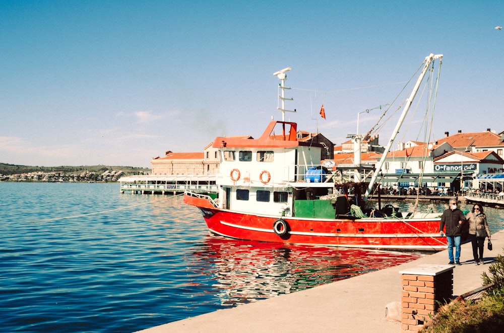
[[180, 196], [118, 184], [0, 190], [2, 331], [131, 332], [425, 255], [228, 239]]

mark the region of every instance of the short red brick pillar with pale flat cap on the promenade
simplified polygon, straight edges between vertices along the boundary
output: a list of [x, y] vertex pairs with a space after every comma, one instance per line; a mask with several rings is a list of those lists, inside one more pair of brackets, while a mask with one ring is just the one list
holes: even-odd
[[450, 302], [453, 296], [452, 265], [420, 265], [400, 271], [401, 328], [404, 332], [418, 331], [437, 312], [439, 303]]

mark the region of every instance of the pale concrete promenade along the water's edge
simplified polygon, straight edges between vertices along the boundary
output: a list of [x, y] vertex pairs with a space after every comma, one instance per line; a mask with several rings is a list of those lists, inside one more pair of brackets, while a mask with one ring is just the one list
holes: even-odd
[[[481, 274], [502, 254], [504, 230], [492, 235], [493, 251], [485, 241], [485, 265], [473, 265], [470, 243], [462, 245], [460, 266], [455, 266], [454, 295], [482, 286]], [[425, 258], [333, 282], [292, 294], [218, 310], [193, 318], [144, 329], [143, 333], [161, 332], [401, 332], [399, 322], [385, 320], [385, 307], [401, 301], [401, 274], [422, 264], [448, 264], [447, 251]]]

